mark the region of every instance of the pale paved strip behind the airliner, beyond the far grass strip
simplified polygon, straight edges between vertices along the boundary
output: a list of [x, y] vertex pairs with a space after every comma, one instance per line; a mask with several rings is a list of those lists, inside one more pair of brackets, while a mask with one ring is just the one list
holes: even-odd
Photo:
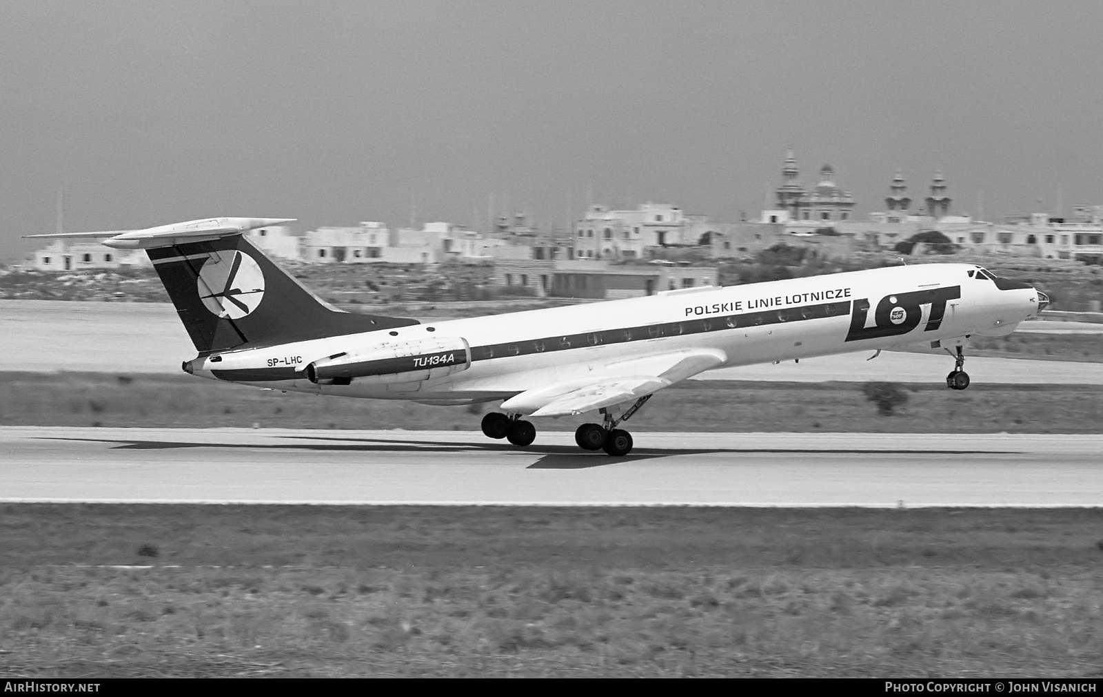
[[[1103, 332], [1103, 324], [1024, 322], [1025, 331]], [[1020, 330], [1020, 331], [1022, 331]], [[697, 379], [795, 383], [941, 382], [949, 355], [886, 351], [804, 358], [709, 371]], [[168, 303], [0, 300], [0, 371], [35, 373], [179, 373], [195, 357], [175, 310]], [[971, 357], [975, 383], [1103, 385], [1103, 363]]]

